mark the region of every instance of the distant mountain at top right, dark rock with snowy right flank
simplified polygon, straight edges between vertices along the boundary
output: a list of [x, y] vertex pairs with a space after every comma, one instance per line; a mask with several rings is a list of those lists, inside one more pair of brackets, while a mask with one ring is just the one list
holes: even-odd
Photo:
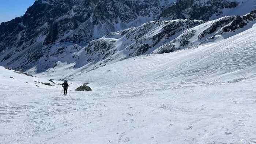
[[158, 16], [158, 20], [214, 20], [228, 15], [245, 15], [256, 9], [255, 0], [177, 0]]

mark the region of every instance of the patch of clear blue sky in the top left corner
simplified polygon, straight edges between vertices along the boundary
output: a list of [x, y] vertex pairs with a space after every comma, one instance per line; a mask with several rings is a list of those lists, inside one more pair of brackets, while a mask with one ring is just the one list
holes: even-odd
[[35, 0], [0, 0], [0, 23], [23, 16]]

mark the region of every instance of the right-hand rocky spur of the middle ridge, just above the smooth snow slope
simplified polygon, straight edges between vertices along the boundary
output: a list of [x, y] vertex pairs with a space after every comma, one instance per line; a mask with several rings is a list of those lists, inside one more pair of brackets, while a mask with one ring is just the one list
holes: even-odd
[[152, 54], [173, 52], [226, 39], [252, 27], [256, 23], [256, 10], [244, 16], [225, 16], [188, 29], [177, 38], [160, 46]]

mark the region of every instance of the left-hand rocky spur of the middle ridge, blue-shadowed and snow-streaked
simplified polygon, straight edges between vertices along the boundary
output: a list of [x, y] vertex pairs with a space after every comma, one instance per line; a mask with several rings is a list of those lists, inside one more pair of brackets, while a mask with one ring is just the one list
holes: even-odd
[[103, 38], [91, 41], [84, 48], [86, 53], [81, 61], [77, 61], [79, 64], [76, 64], [75, 68], [90, 62], [106, 63], [149, 54], [176, 38], [182, 31], [202, 23], [204, 23], [202, 20], [152, 21], [139, 27], [109, 33]]

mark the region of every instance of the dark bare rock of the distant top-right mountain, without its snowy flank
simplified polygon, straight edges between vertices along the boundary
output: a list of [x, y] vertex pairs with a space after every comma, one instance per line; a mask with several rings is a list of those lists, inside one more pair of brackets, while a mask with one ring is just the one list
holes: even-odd
[[158, 16], [159, 20], [200, 19], [221, 15], [223, 9], [235, 8], [240, 3], [234, 0], [177, 0]]

